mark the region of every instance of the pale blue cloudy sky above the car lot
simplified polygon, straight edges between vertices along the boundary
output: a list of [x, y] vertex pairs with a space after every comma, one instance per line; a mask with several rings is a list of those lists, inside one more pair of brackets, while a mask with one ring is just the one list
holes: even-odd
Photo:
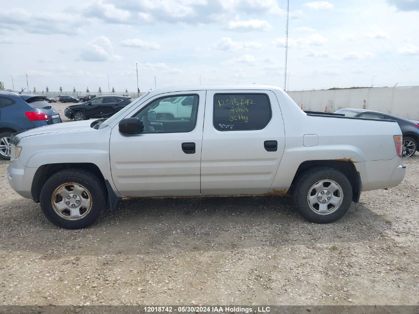
[[[285, 0], [0, 0], [0, 81], [283, 86]], [[419, 0], [290, 0], [290, 90], [419, 84]]]

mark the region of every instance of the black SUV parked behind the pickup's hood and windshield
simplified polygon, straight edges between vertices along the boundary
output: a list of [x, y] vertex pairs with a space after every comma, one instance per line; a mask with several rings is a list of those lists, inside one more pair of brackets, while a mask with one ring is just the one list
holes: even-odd
[[125, 96], [99, 96], [83, 104], [68, 106], [64, 115], [75, 121], [90, 118], [109, 118], [131, 102]]

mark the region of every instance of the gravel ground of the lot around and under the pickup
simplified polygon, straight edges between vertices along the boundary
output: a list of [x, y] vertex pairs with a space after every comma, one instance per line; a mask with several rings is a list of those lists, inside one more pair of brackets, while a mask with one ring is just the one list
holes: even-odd
[[419, 155], [404, 162], [400, 186], [328, 225], [287, 197], [222, 197], [129, 200], [70, 231], [1, 161], [1, 304], [418, 305]]

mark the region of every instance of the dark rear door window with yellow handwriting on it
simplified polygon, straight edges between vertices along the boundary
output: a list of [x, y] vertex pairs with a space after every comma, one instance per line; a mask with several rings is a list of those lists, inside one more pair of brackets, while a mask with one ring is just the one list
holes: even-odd
[[219, 131], [260, 130], [272, 116], [266, 94], [215, 94], [213, 114]]

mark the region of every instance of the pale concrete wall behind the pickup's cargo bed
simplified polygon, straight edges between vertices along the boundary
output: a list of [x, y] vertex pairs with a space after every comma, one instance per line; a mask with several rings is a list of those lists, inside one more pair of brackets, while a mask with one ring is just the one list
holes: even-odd
[[365, 108], [406, 119], [419, 120], [419, 86], [337, 90], [289, 91], [303, 110], [328, 112], [342, 108]]

